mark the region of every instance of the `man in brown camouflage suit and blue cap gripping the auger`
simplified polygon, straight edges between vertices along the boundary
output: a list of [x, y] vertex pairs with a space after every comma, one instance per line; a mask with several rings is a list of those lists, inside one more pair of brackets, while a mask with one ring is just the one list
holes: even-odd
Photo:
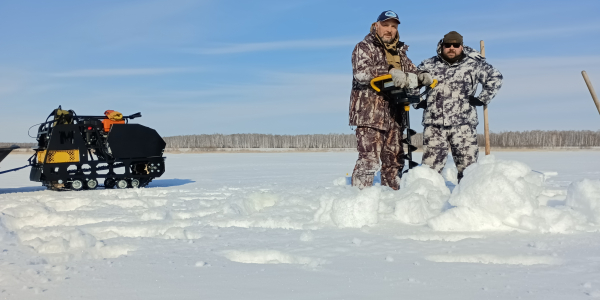
[[429, 85], [431, 76], [418, 72], [406, 56], [408, 46], [399, 40], [400, 20], [393, 11], [384, 11], [371, 25], [371, 31], [352, 52], [352, 93], [350, 126], [356, 126], [358, 160], [352, 185], [371, 186], [381, 159], [381, 184], [399, 188], [399, 171], [404, 167], [401, 144], [404, 109], [394, 107], [370, 86], [373, 78], [391, 74], [396, 87]]

